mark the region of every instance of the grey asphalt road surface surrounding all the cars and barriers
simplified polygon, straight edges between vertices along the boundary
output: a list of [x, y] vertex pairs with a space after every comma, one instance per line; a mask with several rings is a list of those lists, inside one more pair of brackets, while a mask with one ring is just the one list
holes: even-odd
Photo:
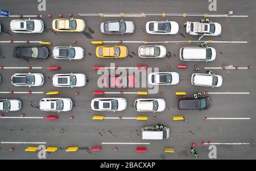
[[[9, 69], [0, 70], [2, 83], [1, 91], [60, 91], [59, 95], [51, 97], [71, 98], [74, 107], [70, 112], [44, 112], [39, 110], [39, 101], [46, 94], [0, 94], [1, 98], [18, 98], [22, 101], [22, 110], [8, 112], [5, 116], [19, 116], [24, 113], [26, 116], [47, 116], [59, 115], [57, 120], [46, 119], [0, 119], [0, 141], [39, 141], [46, 142], [47, 147], [58, 147], [55, 153], [47, 153], [47, 159], [193, 159], [190, 154], [191, 143], [196, 143], [196, 151], [199, 159], [209, 159], [208, 147], [200, 145], [201, 141], [212, 143], [250, 143], [250, 145], [217, 145], [217, 159], [256, 159], [255, 151], [255, 5], [254, 0], [250, 1], [217, 1], [215, 13], [225, 14], [233, 10], [234, 15], [249, 15], [248, 18], [211, 18], [222, 26], [221, 36], [203, 37], [202, 40], [226, 40], [226, 41], [248, 41], [247, 44], [210, 44], [216, 48], [217, 57], [213, 62], [184, 62], [179, 59], [179, 49], [184, 46], [199, 44], [164, 44], [167, 48], [167, 57], [164, 59], [140, 59], [138, 57], [139, 43], [127, 43], [129, 55], [126, 59], [97, 59], [95, 55], [96, 45], [90, 43], [92, 40], [197, 40], [197, 36], [188, 35], [183, 24], [187, 20], [197, 21], [200, 17], [182, 16], [146, 16], [145, 18], [123, 18], [132, 20], [135, 23], [135, 32], [131, 35], [104, 35], [100, 31], [100, 23], [121, 18], [101, 18], [100, 16], [79, 16], [78, 13], [89, 12], [185, 12], [185, 13], [213, 13], [208, 10], [208, 1], [46, 1], [46, 11], [38, 11], [37, 1], [3, 1], [1, 9], [11, 12], [11, 15], [36, 15], [41, 14], [45, 24], [45, 31], [42, 34], [15, 34], [10, 31], [10, 21], [14, 18], [0, 18], [3, 32], [0, 40], [39, 40], [52, 41], [49, 46], [74, 45], [85, 49], [85, 57], [82, 60], [55, 60], [49, 57], [47, 60], [22, 60], [12, 57], [13, 48], [23, 43], [0, 44], [0, 64], [2, 66], [42, 66], [43, 69]], [[81, 18], [86, 21], [86, 30], [82, 33], [61, 33], [52, 30], [52, 20], [59, 18], [59, 14], [72, 13], [73, 18]], [[47, 14], [52, 14], [48, 18]], [[150, 20], [174, 20], [179, 23], [180, 29], [177, 35], [148, 35], [145, 24]], [[32, 45], [32, 44], [30, 44]], [[37, 44], [33, 44], [37, 45]], [[148, 65], [152, 68], [159, 68], [160, 72], [178, 72], [180, 82], [174, 86], [160, 86], [156, 94], [144, 95], [92, 95], [95, 90], [110, 91], [97, 87], [97, 71], [91, 67], [96, 65], [110, 66], [114, 62], [117, 66]], [[188, 65], [188, 69], [177, 69], [176, 65]], [[191, 74], [194, 73], [193, 65], [197, 64], [200, 72], [205, 73], [204, 67], [209, 66], [254, 66], [253, 69], [222, 70], [216, 69], [216, 74], [221, 74], [224, 82], [221, 87], [200, 87], [191, 85]], [[47, 66], [61, 66], [61, 70], [47, 70]], [[167, 65], [171, 65], [167, 68]], [[41, 87], [15, 87], [11, 85], [11, 76], [14, 73], [43, 73], [46, 82]], [[84, 87], [66, 88], [53, 87], [51, 77], [57, 73], [84, 73], [88, 83]], [[119, 89], [112, 89], [119, 91]], [[112, 91], [111, 90], [111, 91]], [[121, 89], [122, 91], [139, 91], [139, 89]], [[79, 91], [80, 95], [75, 95]], [[160, 95], [160, 91], [163, 95]], [[177, 109], [177, 97], [175, 91], [186, 91], [188, 95], [195, 92], [250, 92], [250, 94], [218, 95], [210, 94], [212, 106], [209, 110], [181, 111]], [[94, 97], [125, 97], [127, 109], [122, 112], [96, 112], [90, 107], [90, 101]], [[134, 110], [134, 100], [137, 98], [163, 98], [167, 102], [164, 112], [159, 113], [138, 113]], [[69, 119], [70, 116], [74, 119]], [[148, 116], [148, 120], [92, 120], [94, 115], [104, 116], [126, 116], [136, 117], [139, 115]], [[154, 120], [152, 116], [156, 116]], [[183, 115], [188, 123], [172, 120], [172, 116]], [[232, 117], [250, 118], [250, 120], [208, 120], [204, 117]], [[154, 126], [163, 123], [170, 127], [171, 135], [168, 140], [142, 140], [141, 128]], [[102, 142], [148, 142], [150, 145], [102, 145]], [[102, 146], [100, 152], [90, 152], [92, 146]], [[25, 152], [24, 149], [30, 144], [0, 144], [0, 159], [38, 159], [38, 154]], [[15, 150], [9, 152], [14, 147]], [[67, 147], [79, 147], [77, 152], [65, 152]], [[114, 152], [114, 147], [118, 151]], [[147, 147], [146, 153], [137, 153], [136, 147]], [[164, 153], [164, 148], [175, 148], [175, 153]]]

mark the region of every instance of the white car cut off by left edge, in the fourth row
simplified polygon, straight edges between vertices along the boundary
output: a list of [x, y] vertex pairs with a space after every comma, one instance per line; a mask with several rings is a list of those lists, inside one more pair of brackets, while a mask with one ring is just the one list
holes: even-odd
[[0, 99], [0, 112], [18, 111], [22, 102], [18, 99]]

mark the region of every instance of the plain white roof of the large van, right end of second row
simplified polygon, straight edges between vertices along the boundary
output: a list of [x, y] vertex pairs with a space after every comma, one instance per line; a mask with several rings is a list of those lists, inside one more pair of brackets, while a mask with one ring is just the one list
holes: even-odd
[[183, 48], [183, 59], [206, 59], [207, 48]]

